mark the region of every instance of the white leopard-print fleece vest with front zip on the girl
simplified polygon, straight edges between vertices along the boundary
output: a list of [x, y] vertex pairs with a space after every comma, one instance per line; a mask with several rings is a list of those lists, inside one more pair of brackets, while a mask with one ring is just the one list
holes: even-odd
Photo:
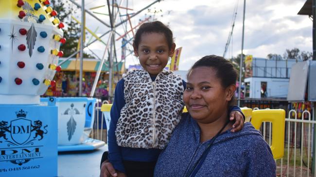
[[162, 71], [153, 82], [145, 70], [133, 70], [124, 74], [123, 79], [126, 104], [115, 131], [117, 144], [165, 148], [184, 107], [181, 77]]

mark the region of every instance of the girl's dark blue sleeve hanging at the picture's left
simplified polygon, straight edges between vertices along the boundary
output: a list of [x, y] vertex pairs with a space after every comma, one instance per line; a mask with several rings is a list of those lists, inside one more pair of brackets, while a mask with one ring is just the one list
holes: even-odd
[[110, 128], [108, 130], [107, 138], [108, 138], [108, 160], [112, 163], [113, 167], [116, 170], [119, 170], [121, 172], [125, 172], [123, 161], [122, 161], [122, 155], [121, 155], [121, 148], [116, 143], [116, 136], [115, 136], [115, 130], [116, 130], [116, 124], [120, 118], [121, 115], [121, 109], [125, 105], [124, 100], [124, 80], [121, 79], [115, 88], [114, 92], [114, 102], [112, 104], [111, 108], [111, 122], [110, 122]]

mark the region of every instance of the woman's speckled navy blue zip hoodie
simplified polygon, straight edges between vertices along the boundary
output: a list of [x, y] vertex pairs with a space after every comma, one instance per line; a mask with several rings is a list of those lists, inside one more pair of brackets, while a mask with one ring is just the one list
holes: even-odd
[[[184, 177], [192, 170], [211, 140], [200, 143], [200, 129], [189, 115], [174, 130], [155, 168], [156, 177]], [[251, 123], [236, 133], [221, 133], [196, 177], [276, 177], [276, 163], [268, 144]]]

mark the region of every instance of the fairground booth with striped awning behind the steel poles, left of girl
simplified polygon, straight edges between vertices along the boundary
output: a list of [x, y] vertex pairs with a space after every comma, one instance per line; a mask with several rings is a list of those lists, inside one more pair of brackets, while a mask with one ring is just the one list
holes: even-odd
[[[60, 58], [59, 63], [63, 62], [65, 58]], [[98, 59], [84, 59], [83, 62], [83, 78], [82, 78], [82, 96], [89, 96], [93, 82], [96, 76], [96, 72], [100, 65]], [[116, 83], [121, 79], [122, 74], [125, 72], [123, 62], [114, 62], [114, 77], [113, 88]], [[55, 74], [53, 80], [56, 84], [53, 87], [49, 87], [45, 93], [45, 96], [78, 96], [79, 85], [79, 69], [80, 61], [78, 59], [68, 59], [61, 65], [61, 72]], [[106, 61], [102, 67], [99, 82], [95, 90], [95, 97], [103, 98], [107, 100], [108, 97], [108, 84], [109, 84], [109, 68]]]

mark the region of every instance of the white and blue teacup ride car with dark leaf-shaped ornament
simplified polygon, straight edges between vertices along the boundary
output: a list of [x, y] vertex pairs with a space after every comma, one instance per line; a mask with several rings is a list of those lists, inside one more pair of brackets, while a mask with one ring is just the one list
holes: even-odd
[[47, 97], [41, 104], [55, 99], [58, 107], [58, 152], [94, 150], [104, 141], [89, 138], [93, 129], [97, 99], [85, 97]]

